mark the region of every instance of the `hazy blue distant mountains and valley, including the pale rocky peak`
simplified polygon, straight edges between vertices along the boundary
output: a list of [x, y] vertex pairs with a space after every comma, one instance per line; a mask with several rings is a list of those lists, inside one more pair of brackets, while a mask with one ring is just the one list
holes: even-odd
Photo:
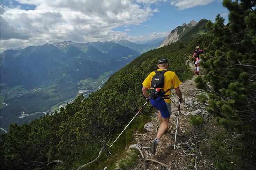
[[64, 41], [4, 51], [0, 55], [1, 128], [8, 130], [13, 122], [23, 124], [53, 113], [78, 93], [89, 95], [140, 54], [207, 33], [206, 22], [192, 20], [175, 28], [165, 40], [146, 44]]

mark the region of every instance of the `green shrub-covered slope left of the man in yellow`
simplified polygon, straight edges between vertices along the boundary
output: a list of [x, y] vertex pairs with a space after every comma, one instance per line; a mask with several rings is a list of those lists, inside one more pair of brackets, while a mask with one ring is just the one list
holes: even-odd
[[[79, 96], [73, 104], [67, 104], [65, 109], [60, 109], [59, 113], [55, 112], [51, 116], [47, 114], [31, 121], [30, 124], [11, 125], [8, 134], [2, 135], [4, 142], [1, 145], [1, 155], [16, 154], [18, 157], [13, 157], [15, 160], [23, 160], [20, 153], [26, 148], [28, 162], [10, 165], [6, 162], [7, 157], [3, 156], [1, 164], [5, 165], [2, 166], [12, 168], [22, 166], [31, 169], [34, 165], [30, 164], [30, 161], [61, 160], [65, 162], [65, 168], [74, 169], [78, 168], [77, 163], [81, 165], [94, 159], [101, 145], [105, 142], [113, 142], [114, 137], [144, 103], [141, 83], [147, 74], [156, 69], [156, 62], [161, 56], [168, 56], [170, 70], [174, 71], [181, 80], [189, 77], [189, 68], [185, 63], [187, 55], [184, 55], [182, 44], [176, 43], [144, 53], [119, 70], [101, 90], [90, 94], [88, 98], [83, 99]], [[144, 113], [151, 112], [152, 107], [147, 105]], [[143, 119], [141, 121], [144, 122]], [[16, 135], [13, 134], [15, 131]], [[15, 143], [19, 141], [20, 149], [7, 150], [11, 134], [15, 136]], [[30, 141], [27, 141], [28, 136]], [[124, 135], [120, 140], [129, 143], [132, 138], [126, 139]], [[113, 146], [113, 151], [122, 151], [125, 147], [126, 142], [118, 143]], [[43, 148], [40, 147], [42, 144]], [[39, 164], [35, 166], [40, 167]]]

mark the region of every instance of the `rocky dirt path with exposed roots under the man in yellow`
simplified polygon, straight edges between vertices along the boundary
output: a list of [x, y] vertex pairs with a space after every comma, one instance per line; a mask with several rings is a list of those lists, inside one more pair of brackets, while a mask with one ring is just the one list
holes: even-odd
[[[200, 75], [203, 74], [203, 69], [200, 68]], [[174, 92], [171, 103], [172, 116], [169, 122], [169, 127], [163, 137], [160, 139], [160, 142], [157, 146], [156, 154], [151, 155], [149, 148], [142, 149], [144, 156], [147, 159], [156, 160], [166, 164], [168, 169], [214, 169], [213, 162], [208, 158], [207, 143], [208, 137], [211, 134], [214, 134], [216, 125], [214, 121], [209, 118], [208, 113], [205, 111], [207, 107], [206, 103], [200, 103], [197, 100], [197, 95], [206, 94], [204, 91], [201, 91], [196, 88], [194, 79], [197, 75], [194, 75], [192, 79], [182, 82], [180, 86], [182, 91], [182, 97], [184, 103], [181, 104], [181, 113], [179, 116], [179, 127], [176, 144], [186, 143], [185, 145], [177, 145], [177, 149], [173, 149], [173, 146], [170, 148], [164, 148], [168, 145], [174, 144], [175, 137], [175, 127], [177, 121], [177, 96]], [[190, 104], [188, 101], [191, 101]], [[175, 103], [175, 104], [174, 104]], [[186, 104], [187, 103], [187, 104]], [[199, 126], [193, 126], [189, 124], [189, 115], [192, 113], [198, 112], [198, 114], [204, 116], [205, 122]], [[197, 115], [198, 115], [197, 114]], [[135, 141], [141, 147], [149, 147], [150, 138], [154, 139], [156, 137], [156, 127], [160, 124], [158, 116], [155, 113], [155, 116], [152, 117], [149, 123], [153, 124], [152, 131], [146, 131], [144, 135], [139, 135], [135, 132], [133, 135]], [[176, 115], [176, 116], [175, 116]], [[147, 136], [145, 136], [147, 135]], [[150, 138], [149, 138], [150, 137]], [[146, 161], [146, 166], [144, 159], [138, 159], [137, 164], [132, 169], [166, 169], [160, 166], [158, 163], [152, 163]]]

